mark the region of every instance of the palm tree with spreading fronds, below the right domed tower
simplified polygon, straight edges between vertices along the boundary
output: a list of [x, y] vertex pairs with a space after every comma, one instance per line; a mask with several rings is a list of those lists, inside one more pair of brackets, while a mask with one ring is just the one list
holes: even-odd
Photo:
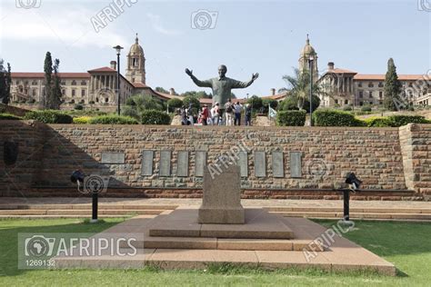
[[[280, 93], [288, 92], [289, 96], [286, 97], [288, 102], [294, 101], [296, 103], [296, 107], [299, 110], [305, 109], [309, 112], [309, 101], [308, 98], [310, 96], [310, 73], [308, 70], [299, 71], [299, 69], [294, 68], [294, 75], [284, 75], [283, 80], [285, 80], [287, 84], [287, 88], [282, 88], [279, 90]], [[316, 110], [318, 105], [320, 104], [320, 100], [316, 100], [318, 98], [317, 94], [322, 94], [318, 84], [313, 84], [313, 110]], [[285, 101], [286, 101], [285, 100]], [[306, 104], [308, 102], [308, 104]], [[283, 104], [284, 107], [291, 106], [291, 104]], [[315, 106], [316, 104], [316, 106]], [[308, 107], [307, 107], [308, 105]]]

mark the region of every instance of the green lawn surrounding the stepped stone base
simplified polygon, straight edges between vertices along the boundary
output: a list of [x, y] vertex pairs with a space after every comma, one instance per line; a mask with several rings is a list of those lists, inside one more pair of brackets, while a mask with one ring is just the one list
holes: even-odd
[[[277, 285], [277, 286], [430, 286], [431, 223], [356, 222], [346, 237], [393, 262], [397, 277], [373, 273], [327, 273], [210, 266], [206, 271], [17, 270], [17, 233], [98, 233], [123, 219], [88, 224], [82, 220], [0, 221], [0, 285]], [[326, 226], [335, 222], [317, 221]]]

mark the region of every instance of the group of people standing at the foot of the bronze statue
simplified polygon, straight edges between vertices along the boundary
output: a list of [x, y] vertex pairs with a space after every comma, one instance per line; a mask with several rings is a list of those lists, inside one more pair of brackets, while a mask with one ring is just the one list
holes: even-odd
[[241, 115], [244, 112], [246, 125], [251, 125], [251, 110], [250, 104], [246, 104], [246, 106], [239, 102], [233, 104], [230, 99], [223, 106], [219, 103], [214, 104], [211, 109], [208, 108], [207, 104], [204, 104], [196, 118], [191, 115], [190, 107], [188, 109], [183, 108], [181, 110], [182, 124], [241, 125]]

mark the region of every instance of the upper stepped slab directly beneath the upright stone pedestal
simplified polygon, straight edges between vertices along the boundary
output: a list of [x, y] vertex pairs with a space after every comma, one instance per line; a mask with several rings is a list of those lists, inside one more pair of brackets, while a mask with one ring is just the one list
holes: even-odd
[[150, 236], [167, 237], [216, 237], [236, 239], [291, 239], [292, 230], [284, 223], [283, 216], [263, 209], [246, 209], [245, 224], [199, 224], [197, 211], [175, 210], [163, 221], [155, 223]]

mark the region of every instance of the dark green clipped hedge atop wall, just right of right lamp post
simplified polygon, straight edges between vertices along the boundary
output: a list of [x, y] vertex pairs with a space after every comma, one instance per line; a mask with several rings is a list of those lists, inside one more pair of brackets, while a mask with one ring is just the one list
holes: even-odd
[[353, 114], [328, 109], [317, 110], [313, 113], [313, 121], [317, 126], [366, 126]]

